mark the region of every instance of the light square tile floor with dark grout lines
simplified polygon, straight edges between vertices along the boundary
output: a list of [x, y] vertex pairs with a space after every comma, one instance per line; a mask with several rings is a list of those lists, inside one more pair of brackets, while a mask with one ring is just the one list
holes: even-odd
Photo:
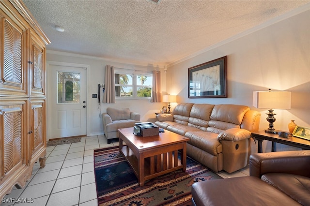
[[[99, 135], [82, 137], [79, 143], [47, 147], [46, 166], [40, 168], [35, 163], [27, 186], [14, 188], [1, 200], [1, 206], [97, 206], [93, 149], [118, 144], [108, 145], [107, 139]], [[217, 174], [223, 178], [249, 176], [249, 169]], [[29, 203], [20, 203], [27, 198]]]

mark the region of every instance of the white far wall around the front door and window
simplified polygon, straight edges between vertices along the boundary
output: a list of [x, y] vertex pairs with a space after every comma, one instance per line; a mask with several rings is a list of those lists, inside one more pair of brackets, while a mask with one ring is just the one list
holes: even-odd
[[[164, 67], [160, 65], [136, 65], [136, 64], [125, 64], [120, 62], [108, 61], [106, 59], [94, 58], [89, 56], [75, 55], [64, 52], [47, 51], [47, 61], [56, 62], [66, 62], [66, 63], [76, 63], [90, 65], [90, 71], [88, 71], [88, 97], [87, 97], [87, 107], [89, 111], [89, 127], [88, 135], [99, 135], [103, 134], [102, 119], [99, 117], [98, 111], [98, 101], [97, 98], [92, 98], [92, 94], [97, 94], [98, 84], [104, 83], [104, 74], [106, 65], [111, 65], [118, 68], [132, 69], [132, 70], [143, 70], [143, 71], [160, 71], [164, 78]], [[48, 68], [47, 68], [48, 69]], [[47, 86], [48, 81], [53, 81], [47, 76]], [[56, 81], [56, 80], [55, 80]], [[47, 88], [48, 90], [48, 88]], [[101, 93], [101, 100], [103, 94]], [[102, 101], [101, 101], [102, 102]], [[47, 100], [48, 104], [48, 100]], [[150, 103], [149, 100], [116, 100], [116, 103], [101, 103], [101, 113], [106, 112], [107, 107], [115, 108], [130, 108], [131, 111], [138, 112], [141, 115], [141, 121], [152, 121], [150, 118], [155, 118], [154, 112], [159, 112], [160, 108], [165, 103]], [[48, 106], [48, 105], [47, 105]], [[51, 121], [47, 117], [47, 121]], [[48, 125], [48, 124], [47, 124]], [[48, 137], [47, 137], [48, 138]]]

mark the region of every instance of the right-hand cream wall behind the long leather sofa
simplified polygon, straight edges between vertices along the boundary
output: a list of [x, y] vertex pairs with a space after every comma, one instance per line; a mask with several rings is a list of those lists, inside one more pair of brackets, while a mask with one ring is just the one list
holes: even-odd
[[[291, 110], [275, 110], [275, 129], [288, 131], [290, 119], [310, 127], [310, 11], [248, 35], [219, 44], [198, 56], [168, 65], [168, 93], [178, 102], [233, 103], [252, 106], [255, 90], [292, 91]], [[188, 68], [228, 56], [228, 98], [188, 98]], [[169, 79], [169, 80], [168, 80]], [[261, 111], [260, 129], [267, 129], [267, 110]], [[269, 146], [268, 146], [269, 147]]]

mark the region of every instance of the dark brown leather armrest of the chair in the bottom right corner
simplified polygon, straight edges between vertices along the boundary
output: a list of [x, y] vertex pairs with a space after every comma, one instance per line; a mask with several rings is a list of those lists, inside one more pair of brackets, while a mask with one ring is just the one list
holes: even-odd
[[288, 173], [310, 177], [310, 150], [252, 154], [250, 176], [261, 178], [266, 173]]

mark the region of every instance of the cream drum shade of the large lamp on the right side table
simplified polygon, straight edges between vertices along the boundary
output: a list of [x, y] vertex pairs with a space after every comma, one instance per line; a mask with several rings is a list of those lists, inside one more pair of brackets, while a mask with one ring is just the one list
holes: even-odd
[[253, 91], [253, 106], [264, 109], [291, 109], [291, 92]]

